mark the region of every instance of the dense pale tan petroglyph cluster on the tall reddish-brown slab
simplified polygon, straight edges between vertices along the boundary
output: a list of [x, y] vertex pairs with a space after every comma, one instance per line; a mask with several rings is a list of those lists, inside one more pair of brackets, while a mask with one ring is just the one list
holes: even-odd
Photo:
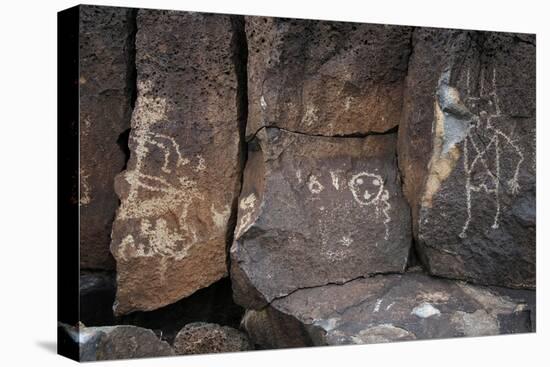
[[[140, 84], [141, 93], [150, 92], [148, 83]], [[137, 256], [159, 254], [182, 259], [187, 250], [199, 238], [196, 229], [187, 220], [189, 205], [194, 200], [203, 200], [196, 181], [176, 171], [191, 164], [184, 157], [179, 144], [168, 135], [151, 131], [151, 127], [166, 119], [166, 102], [162, 98], [141, 96], [138, 98], [139, 113], [134, 114], [132, 139], [135, 165], [123, 177], [129, 185], [128, 196], [121, 202], [119, 219], [138, 219], [140, 235], [146, 244], [127, 236], [121, 243], [122, 253], [133, 247]], [[151, 171], [146, 162], [152, 154], [162, 157], [160, 170]], [[197, 156], [195, 172], [206, 168], [204, 159]], [[154, 219], [166, 214], [175, 217], [177, 225], [171, 230], [164, 219]], [[152, 223], [154, 222], [154, 224]]]

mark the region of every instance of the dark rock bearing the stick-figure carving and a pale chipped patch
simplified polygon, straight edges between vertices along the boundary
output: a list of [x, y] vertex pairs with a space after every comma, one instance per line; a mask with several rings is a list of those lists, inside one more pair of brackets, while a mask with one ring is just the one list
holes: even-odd
[[534, 36], [418, 29], [399, 164], [430, 273], [535, 287]]

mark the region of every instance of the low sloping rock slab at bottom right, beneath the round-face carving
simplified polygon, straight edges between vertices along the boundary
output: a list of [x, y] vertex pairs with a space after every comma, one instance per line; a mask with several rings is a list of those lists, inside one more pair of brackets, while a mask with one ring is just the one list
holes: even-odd
[[247, 311], [264, 348], [365, 344], [532, 331], [534, 292], [473, 286], [420, 273], [302, 289]]

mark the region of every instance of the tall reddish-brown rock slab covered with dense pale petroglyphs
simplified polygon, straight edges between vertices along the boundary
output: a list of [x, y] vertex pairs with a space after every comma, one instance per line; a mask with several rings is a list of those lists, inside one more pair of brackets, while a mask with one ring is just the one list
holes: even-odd
[[137, 28], [131, 155], [115, 182], [117, 314], [159, 308], [227, 275], [240, 188], [230, 17], [139, 10]]

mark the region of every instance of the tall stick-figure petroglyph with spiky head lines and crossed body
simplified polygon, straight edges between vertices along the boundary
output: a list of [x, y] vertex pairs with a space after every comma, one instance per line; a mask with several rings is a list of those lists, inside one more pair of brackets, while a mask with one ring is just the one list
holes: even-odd
[[[510, 194], [517, 194], [519, 170], [524, 161], [524, 154], [516, 141], [500, 130], [495, 122], [502, 116], [497, 94], [496, 71], [493, 68], [489, 88], [485, 85], [484, 71], [481, 71], [479, 89], [471, 91], [470, 70], [466, 74], [467, 98], [466, 105], [473, 114], [473, 124], [470, 125], [466, 138], [463, 140], [464, 174], [466, 190], [467, 218], [460, 232], [465, 238], [472, 219], [472, 192], [492, 195], [495, 200], [495, 214], [491, 228], [499, 227], [501, 212], [501, 194], [508, 189]], [[485, 137], [487, 141], [481, 139]], [[501, 173], [503, 155], [507, 160], [514, 160], [513, 176], [507, 181]], [[504, 186], [504, 187], [503, 187]], [[482, 204], [483, 205], [483, 204]]]

